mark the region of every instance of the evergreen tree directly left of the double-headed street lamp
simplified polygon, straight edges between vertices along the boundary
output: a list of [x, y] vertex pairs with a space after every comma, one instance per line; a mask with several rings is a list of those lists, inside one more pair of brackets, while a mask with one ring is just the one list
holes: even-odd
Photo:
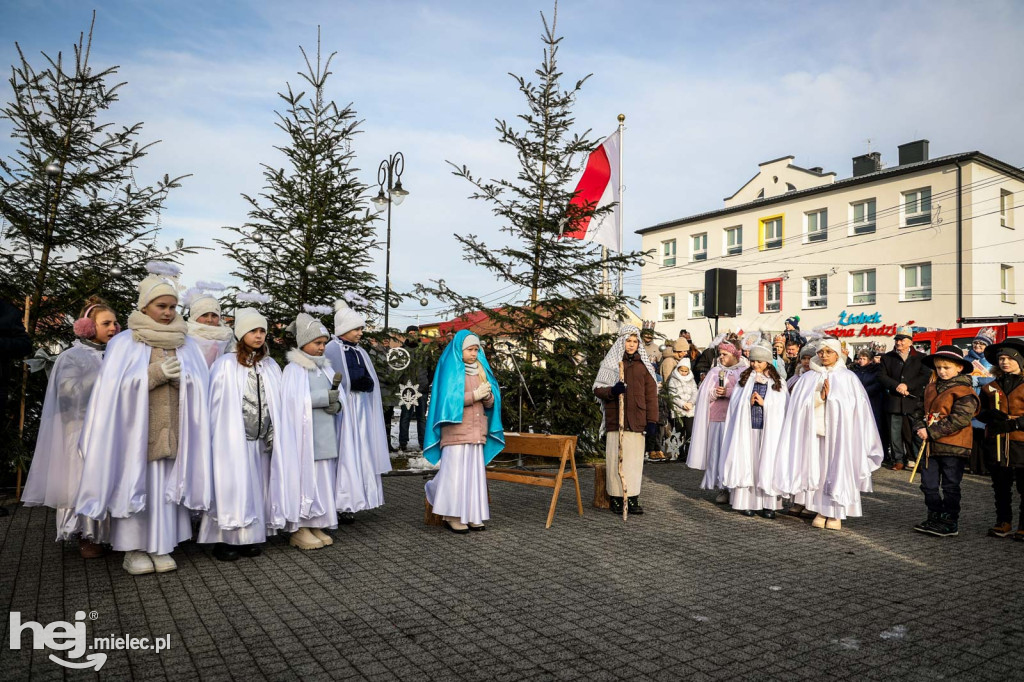
[[[227, 227], [238, 236], [233, 241], [218, 240], [236, 262], [232, 274], [272, 297], [262, 307], [281, 324], [303, 304], [330, 304], [345, 293], [354, 295], [353, 307], [373, 313], [371, 301], [383, 296], [369, 271], [375, 218], [366, 209], [367, 185], [352, 165], [351, 143], [360, 122], [351, 104], [339, 108], [328, 99], [327, 80], [337, 53], [321, 58], [318, 31], [315, 62], [299, 49], [306, 66], [299, 77], [310, 88], [309, 97], [291, 84], [279, 93], [288, 108], [278, 113], [276, 125], [288, 143], [275, 148], [287, 167], [263, 164], [263, 191], [243, 195], [249, 221]], [[278, 350], [283, 351], [280, 340]]]

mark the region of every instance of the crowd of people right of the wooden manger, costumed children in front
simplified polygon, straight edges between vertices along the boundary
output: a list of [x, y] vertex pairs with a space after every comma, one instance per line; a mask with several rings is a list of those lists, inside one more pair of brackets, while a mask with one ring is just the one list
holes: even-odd
[[[900, 327], [892, 350], [851, 357], [839, 339], [799, 324], [791, 317], [774, 336], [724, 334], [702, 351], [686, 330], [662, 346], [653, 325], [623, 327], [594, 384], [611, 510], [642, 514], [644, 461], [675, 456], [703, 471], [700, 487], [718, 504], [769, 519], [784, 507], [840, 529], [862, 515], [860, 496], [887, 464], [921, 476], [928, 517], [914, 529], [950, 537], [970, 470], [991, 476], [989, 535], [1024, 541], [1024, 500], [1012, 525], [1014, 485], [1024, 498], [1024, 340], [995, 343], [986, 329], [967, 354], [925, 354]], [[679, 452], [667, 456], [673, 435]]]

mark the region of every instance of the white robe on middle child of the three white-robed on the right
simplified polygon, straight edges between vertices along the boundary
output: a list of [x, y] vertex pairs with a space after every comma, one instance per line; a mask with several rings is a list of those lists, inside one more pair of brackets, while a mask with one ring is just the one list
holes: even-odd
[[777, 508], [773, 478], [787, 394], [784, 386], [774, 390], [769, 379], [764, 428], [752, 428], [751, 397], [757, 376], [752, 372], [746, 385], [733, 391], [722, 436], [722, 484], [731, 492], [735, 509]]

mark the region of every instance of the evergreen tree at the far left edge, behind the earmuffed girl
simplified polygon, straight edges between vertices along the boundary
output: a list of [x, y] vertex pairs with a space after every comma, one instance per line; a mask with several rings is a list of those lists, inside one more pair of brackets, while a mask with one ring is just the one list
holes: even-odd
[[[110, 301], [123, 323], [146, 261], [194, 252], [180, 241], [157, 248], [160, 211], [182, 178], [136, 182], [134, 169], [155, 142], [139, 140], [141, 123], [105, 120], [124, 83], [113, 82], [118, 67], [90, 65], [94, 25], [95, 14], [72, 58], [43, 53], [42, 70], [15, 43], [12, 96], [0, 109], [17, 140], [13, 154], [0, 158], [0, 296], [28, 306], [30, 336], [51, 352], [71, 342], [70, 321], [89, 295]], [[23, 381], [20, 400], [12, 393], [8, 414], [0, 415], [0, 450], [31, 451], [45, 384], [45, 375], [35, 374]], [[23, 402], [24, 443], [15, 418]]]

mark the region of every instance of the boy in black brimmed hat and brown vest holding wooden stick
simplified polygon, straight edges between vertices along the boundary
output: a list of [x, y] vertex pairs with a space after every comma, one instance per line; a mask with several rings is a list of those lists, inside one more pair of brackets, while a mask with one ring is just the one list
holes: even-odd
[[961, 480], [974, 441], [971, 420], [980, 404], [971, 384], [974, 365], [956, 346], [939, 346], [922, 365], [935, 371], [935, 381], [925, 387], [924, 400], [911, 417], [924, 441], [913, 470], [921, 471], [928, 506], [928, 518], [913, 529], [949, 538], [959, 534]]

